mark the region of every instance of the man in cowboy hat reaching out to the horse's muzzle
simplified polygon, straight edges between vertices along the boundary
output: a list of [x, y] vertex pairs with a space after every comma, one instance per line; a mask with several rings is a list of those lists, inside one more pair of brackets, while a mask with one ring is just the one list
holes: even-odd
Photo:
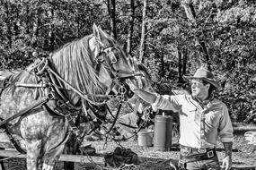
[[199, 68], [191, 82], [191, 95], [158, 95], [135, 89], [140, 98], [159, 109], [172, 110], [180, 115], [181, 154], [179, 166], [183, 169], [220, 169], [216, 155], [216, 140], [224, 144], [225, 157], [222, 167], [232, 165], [233, 127], [223, 102], [213, 97], [219, 89], [212, 72]]

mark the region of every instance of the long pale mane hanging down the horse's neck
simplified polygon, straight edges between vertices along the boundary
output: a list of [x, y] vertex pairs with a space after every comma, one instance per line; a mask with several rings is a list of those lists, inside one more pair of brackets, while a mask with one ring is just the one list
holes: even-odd
[[107, 87], [93, 68], [93, 54], [89, 48], [92, 36], [66, 44], [52, 54], [52, 62], [63, 79], [85, 94], [102, 94]]

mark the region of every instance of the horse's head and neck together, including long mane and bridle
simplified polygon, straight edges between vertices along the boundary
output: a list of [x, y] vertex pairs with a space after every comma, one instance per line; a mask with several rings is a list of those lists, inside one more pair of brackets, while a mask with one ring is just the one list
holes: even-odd
[[[137, 86], [143, 77], [137, 64], [124, 53], [117, 41], [96, 25], [93, 25], [90, 36], [54, 52], [50, 62], [60, 77], [77, 89], [76, 93], [74, 89], [70, 91], [73, 103], [81, 97], [101, 103], [106, 97], [131, 98], [133, 92], [127, 81], [133, 80], [131, 82]], [[66, 88], [70, 89], [69, 86]], [[111, 92], [114, 96], [110, 96]]]

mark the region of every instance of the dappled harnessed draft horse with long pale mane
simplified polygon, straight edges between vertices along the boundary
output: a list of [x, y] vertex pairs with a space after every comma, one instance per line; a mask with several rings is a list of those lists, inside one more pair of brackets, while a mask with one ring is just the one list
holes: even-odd
[[93, 24], [92, 34], [4, 80], [0, 128], [14, 139], [9, 147], [26, 153], [28, 170], [52, 170], [70, 132], [81, 140], [73, 117], [86, 103], [101, 106], [119, 98], [121, 106], [132, 96], [126, 81], [136, 76], [117, 41]]

